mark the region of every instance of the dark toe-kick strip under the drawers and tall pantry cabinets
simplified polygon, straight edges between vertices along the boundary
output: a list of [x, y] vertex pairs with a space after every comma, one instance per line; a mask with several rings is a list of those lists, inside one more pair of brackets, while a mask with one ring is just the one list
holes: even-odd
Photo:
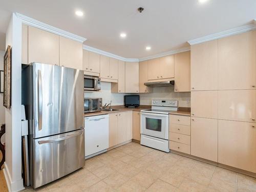
[[228, 170], [232, 170], [233, 172], [237, 172], [237, 173], [240, 173], [240, 174], [243, 174], [243, 175], [247, 175], [247, 176], [256, 178], [256, 173], [248, 172], [247, 170], [243, 170], [243, 169], [236, 168], [236, 167], [231, 167], [231, 166], [228, 166], [228, 165], [224, 165], [224, 164], [221, 164], [221, 163], [217, 163], [217, 162], [215, 162], [215, 161], [210, 161], [210, 160], [207, 160], [207, 159], [203, 159], [203, 158], [196, 157], [196, 156], [193, 156], [193, 155], [189, 155], [189, 154], [177, 152], [177, 151], [174, 151], [174, 150], [171, 150], [170, 152], [171, 152], [171, 153], [175, 153], [175, 154], [177, 154], [177, 155], [184, 156], [184, 157], [188, 157], [188, 158], [191, 158], [191, 159], [195, 159], [195, 160], [198, 160], [198, 161], [202, 161], [202, 162], [204, 162], [204, 163], [208, 163], [208, 164], [211, 164], [211, 165], [215, 165], [215, 166], [218, 166], [218, 167], [221, 167], [221, 168], [225, 168], [225, 169], [228, 169]]

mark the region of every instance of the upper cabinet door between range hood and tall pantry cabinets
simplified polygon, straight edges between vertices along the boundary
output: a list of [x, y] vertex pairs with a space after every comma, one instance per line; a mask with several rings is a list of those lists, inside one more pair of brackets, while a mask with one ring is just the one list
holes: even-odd
[[190, 51], [174, 55], [175, 92], [190, 92]]

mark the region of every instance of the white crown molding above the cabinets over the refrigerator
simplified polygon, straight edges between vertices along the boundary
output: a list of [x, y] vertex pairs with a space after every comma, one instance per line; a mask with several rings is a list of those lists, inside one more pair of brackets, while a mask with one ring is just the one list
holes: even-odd
[[35, 20], [35, 19], [25, 16], [23, 14], [20, 14], [20, 13], [15, 13], [15, 14], [18, 18], [20, 18], [22, 20], [22, 23], [27, 24], [29, 26], [33, 26], [33, 27], [36, 27], [36, 28], [39, 28], [39, 29], [63, 36], [63, 37], [67, 37], [72, 40], [76, 40], [78, 42], [83, 42], [83, 41], [87, 40], [84, 37], [81, 37], [81, 36], [75, 35], [73, 33], [64, 31], [62, 29], [58, 29], [56, 27], [50, 26], [48, 24], [39, 22], [38, 20]]

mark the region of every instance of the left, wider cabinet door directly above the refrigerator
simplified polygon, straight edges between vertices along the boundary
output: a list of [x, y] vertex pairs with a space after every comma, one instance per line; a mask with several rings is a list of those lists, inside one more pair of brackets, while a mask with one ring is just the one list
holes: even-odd
[[28, 62], [59, 65], [59, 36], [29, 26]]

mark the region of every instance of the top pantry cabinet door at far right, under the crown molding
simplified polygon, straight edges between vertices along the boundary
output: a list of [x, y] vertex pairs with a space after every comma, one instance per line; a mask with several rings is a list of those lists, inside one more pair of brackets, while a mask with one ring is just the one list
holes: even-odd
[[219, 90], [255, 89], [256, 31], [218, 40]]

